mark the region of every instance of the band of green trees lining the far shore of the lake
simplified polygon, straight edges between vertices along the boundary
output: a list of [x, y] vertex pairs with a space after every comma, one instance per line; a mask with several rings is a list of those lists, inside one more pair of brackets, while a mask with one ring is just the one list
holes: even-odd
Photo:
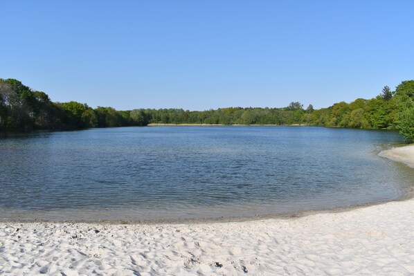
[[92, 109], [79, 102], [52, 102], [15, 79], [0, 79], [0, 131], [12, 129], [82, 129], [158, 124], [312, 125], [359, 129], [399, 129], [414, 141], [414, 80], [395, 91], [388, 86], [376, 98], [339, 102], [332, 107], [304, 109], [300, 102], [284, 108], [228, 107], [207, 111], [183, 109]]

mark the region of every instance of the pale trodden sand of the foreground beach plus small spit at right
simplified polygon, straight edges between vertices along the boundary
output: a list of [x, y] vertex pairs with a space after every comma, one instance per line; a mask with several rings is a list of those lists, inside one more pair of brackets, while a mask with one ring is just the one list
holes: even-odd
[[[382, 155], [410, 165], [413, 149]], [[0, 275], [414, 275], [414, 199], [224, 223], [1, 221], [0, 253]]]

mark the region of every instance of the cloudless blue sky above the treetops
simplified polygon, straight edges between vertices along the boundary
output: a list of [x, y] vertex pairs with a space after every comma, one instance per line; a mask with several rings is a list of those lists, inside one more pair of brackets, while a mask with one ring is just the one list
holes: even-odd
[[414, 79], [414, 1], [1, 1], [0, 77], [91, 107], [307, 107]]

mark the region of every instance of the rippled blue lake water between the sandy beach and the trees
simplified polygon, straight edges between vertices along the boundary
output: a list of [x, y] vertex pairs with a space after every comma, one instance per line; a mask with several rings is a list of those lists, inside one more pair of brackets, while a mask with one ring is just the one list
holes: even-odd
[[390, 201], [394, 131], [128, 127], [0, 138], [0, 219], [249, 217]]

